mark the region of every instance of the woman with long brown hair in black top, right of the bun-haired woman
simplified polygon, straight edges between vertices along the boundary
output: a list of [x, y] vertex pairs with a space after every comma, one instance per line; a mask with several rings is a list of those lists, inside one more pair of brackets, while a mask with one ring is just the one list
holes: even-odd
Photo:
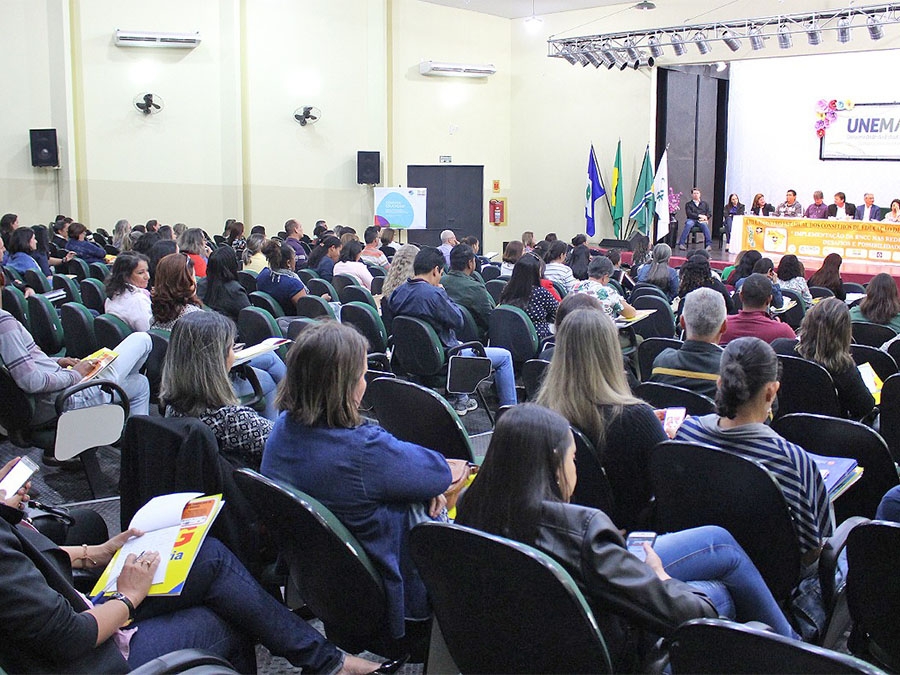
[[872, 412], [875, 399], [850, 354], [850, 323], [850, 312], [842, 300], [822, 298], [803, 317], [800, 341], [790, 355], [802, 356], [827, 370], [837, 389], [841, 414], [859, 420]]

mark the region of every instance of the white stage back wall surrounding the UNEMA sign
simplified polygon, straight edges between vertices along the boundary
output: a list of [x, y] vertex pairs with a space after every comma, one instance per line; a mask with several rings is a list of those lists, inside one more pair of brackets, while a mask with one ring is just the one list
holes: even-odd
[[814, 190], [822, 190], [828, 204], [838, 191], [855, 204], [866, 192], [875, 194], [876, 204], [890, 204], [900, 195], [896, 163], [823, 162], [814, 124], [820, 99], [896, 100], [886, 74], [898, 68], [900, 50], [732, 64], [726, 193], [736, 192], [748, 206], [757, 192], [778, 204], [788, 189], [804, 207]]

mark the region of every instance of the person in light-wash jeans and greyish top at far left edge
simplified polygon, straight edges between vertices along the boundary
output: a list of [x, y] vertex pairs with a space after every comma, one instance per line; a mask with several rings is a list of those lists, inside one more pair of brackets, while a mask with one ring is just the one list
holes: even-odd
[[[6, 285], [6, 276], [0, 271], [0, 289]], [[152, 344], [146, 333], [132, 333], [113, 351], [118, 357], [103, 371], [103, 379], [112, 380], [128, 395], [130, 413], [146, 415], [150, 411], [150, 384], [140, 374], [140, 369], [150, 354]], [[54, 419], [56, 397], [68, 387], [84, 380], [94, 367], [93, 361], [62, 357], [50, 358], [34, 343], [25, 327], [0, 303], [0, 361], [10, 377], [26, 394], [32, 394], [35, 407], [33, 422], [39, 424]], [[109, 402], [109, 396], [98, 388], [74, 394], [69, 399], [70, 408], [87, 408]], [[52, 452], [45, 461], [53, 463]]]

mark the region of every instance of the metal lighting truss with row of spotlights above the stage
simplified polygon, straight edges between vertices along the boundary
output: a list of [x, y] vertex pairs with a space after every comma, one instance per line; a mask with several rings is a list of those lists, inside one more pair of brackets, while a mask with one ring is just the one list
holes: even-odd
[[[745, 42], [751, 50], [759, 51], [765, 48], [766, 40], [773, 40], [773, 44], [787, 50], [793, 47], [795, 35], [815, 46], [822, 43], [823, 36], [832, 34], [835, 42], [844, 44], [850, 41], [855, 28], [859, 29], [860, 34], [865, 29], [871, 40], [881, 40], [886, 27], [897, 23], [900, 23], [900, 3], [891, 3], [555, 38], [548, 40], [547, 45], [548, 56], [565, 59], [572, 65], [639, 70], [652, 68], [658, 59], [667, 55], [670, 58], [685, 56], [691, 42], [702, 59], [720, 42], [732, 52], [741, 50]], [[709, 58], [720, 60], [715, 55]]]

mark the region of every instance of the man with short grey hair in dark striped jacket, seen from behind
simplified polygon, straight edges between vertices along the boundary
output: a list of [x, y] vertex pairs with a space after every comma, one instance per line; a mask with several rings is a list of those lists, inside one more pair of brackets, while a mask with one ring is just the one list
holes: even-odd
[[719, 383], [725, 332], [725, 300], [712, 288], [698, 288], [687, 294], [679, 323], [685, 331], [680, 349], [666, 349], [653, 361], [651, 382], [684, 387], [715, 398]]

